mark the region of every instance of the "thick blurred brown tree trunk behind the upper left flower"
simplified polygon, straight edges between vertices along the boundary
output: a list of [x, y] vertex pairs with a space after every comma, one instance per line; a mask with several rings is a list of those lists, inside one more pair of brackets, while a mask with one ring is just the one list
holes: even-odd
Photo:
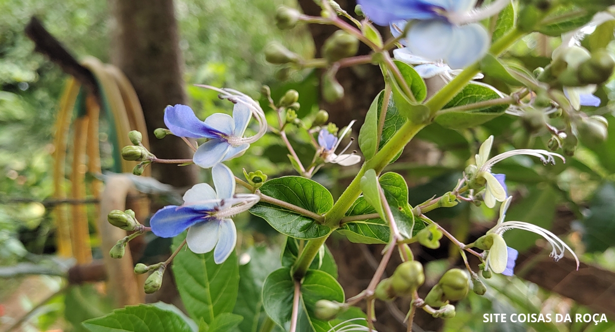
[[[111, 61], [132, 83], [145, 114], [150, 137], [164, 128], [164, 108], [185, 104], [183, 65], [173, 0], [109, 0], [114, 18]], [[186, 159], [192, 151], [180, 138], [153, 138], [151, 152], [162, 159]], [[196, 166], [153, 164], [152, 173], [163, 183], [190, 186]]]

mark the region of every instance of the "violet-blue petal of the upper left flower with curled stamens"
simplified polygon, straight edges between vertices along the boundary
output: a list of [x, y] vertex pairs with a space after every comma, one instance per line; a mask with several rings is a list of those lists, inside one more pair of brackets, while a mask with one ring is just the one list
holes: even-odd
[[176, 136], [216, 138], [223, 134], [200, 121], [186, 105], [167, 106], [164, 111], [164, 124]]

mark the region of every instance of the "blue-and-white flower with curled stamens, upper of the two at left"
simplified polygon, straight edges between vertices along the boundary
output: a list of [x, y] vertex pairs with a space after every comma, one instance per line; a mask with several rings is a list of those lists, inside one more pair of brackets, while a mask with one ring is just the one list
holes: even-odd
[[[267, 131], [267, 122], [263, 110], [256, 101], [246, 95], [229, 93], [221, 95], [235, 103], [232, 117], [228, 114], [215, 113], [200, 121], [194, 111], [186, 105], [167, 106], [164, 123], [173, 135], [190, 138], [208, 138], [194, 153], [194, 164], [210, 168], [220, 162], [241, 156], [249, 147]], [[258, 133], [244, 137], [250, 117], [254, 116], [260, 126]]]

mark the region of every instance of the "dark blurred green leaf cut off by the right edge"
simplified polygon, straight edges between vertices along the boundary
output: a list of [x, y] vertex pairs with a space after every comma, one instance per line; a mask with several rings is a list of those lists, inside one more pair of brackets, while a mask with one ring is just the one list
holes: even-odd
[[598, 187], [590, 205], [589, 216], [583, 220], [586, 250], [602, 252], [615, 245], [615, 186], [605, 182]]

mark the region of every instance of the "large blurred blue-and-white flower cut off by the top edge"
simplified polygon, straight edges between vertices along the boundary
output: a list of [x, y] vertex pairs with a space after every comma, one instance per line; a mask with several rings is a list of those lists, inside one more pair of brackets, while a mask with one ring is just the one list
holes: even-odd
[[[477, 22], [498, 14], [510, 0], [496, 0], [474, 10], [477, 0], [359, 0], [363, 12], [378, 25], [408, 28], [404, 44], [429, 60], [464, 68], [485, 55], [489, 36]], [[402, 22], [400, 22], [402, 20]], [[401, 29], [403, 30], [403, 28]]]

